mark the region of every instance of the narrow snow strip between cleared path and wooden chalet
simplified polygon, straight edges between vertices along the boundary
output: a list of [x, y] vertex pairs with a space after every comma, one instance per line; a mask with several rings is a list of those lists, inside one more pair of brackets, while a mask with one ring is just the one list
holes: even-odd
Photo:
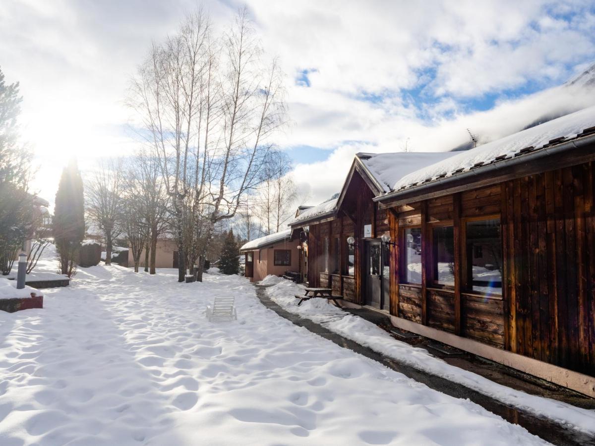
[[[330, 331], [358, 342], [372, 350], [392, 357], [419, 370], [443, 376], [453, 382], [489, 395], [502, 403], [544, 416], [570, 428], [595, 435], [595, 410], [581, 409], [549, 398], [529, 395], [490, 381], [476, 373], [468, 372], [432, 356], [424, 348], [412, 347], [394, 339], [374, 323], [346, 313], [326, 299], [310, 299], [297, 306], [296, 294], [304, 293], [303, 286], [292, 281], [267, 276], [261, 282], [268, 295], [286, 310], [303, 318], [321, 323]], [[272, 285], [272, 286], [271, 286]]]

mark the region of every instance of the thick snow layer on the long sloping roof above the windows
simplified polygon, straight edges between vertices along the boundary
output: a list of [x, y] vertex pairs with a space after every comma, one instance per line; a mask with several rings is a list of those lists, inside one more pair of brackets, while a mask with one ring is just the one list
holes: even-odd
[[595, 125], [595, 106], [560, 117], [536, 127], [527, 128], [476, 149], [459, 152], [443, 161], [418, 169], [397, 180], [393, 190], [407, 189], [444, 177], [452, 177], [472, 168], [510, 159], [533, 152], [554, 143], [563, 142]]

